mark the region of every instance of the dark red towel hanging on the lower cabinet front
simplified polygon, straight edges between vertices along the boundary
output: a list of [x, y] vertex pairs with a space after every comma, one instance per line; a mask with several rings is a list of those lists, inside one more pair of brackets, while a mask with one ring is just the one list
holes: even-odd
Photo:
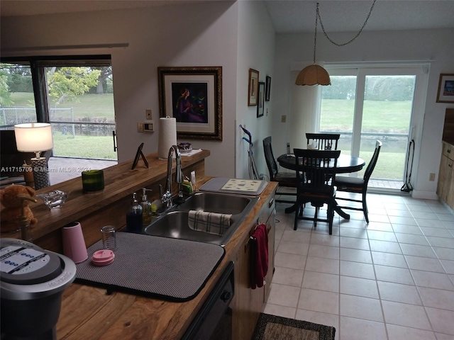
[[267, 225], [260, 224], [250, 237], [250, 288], [265, 285], [268, 272], [268, 232]]

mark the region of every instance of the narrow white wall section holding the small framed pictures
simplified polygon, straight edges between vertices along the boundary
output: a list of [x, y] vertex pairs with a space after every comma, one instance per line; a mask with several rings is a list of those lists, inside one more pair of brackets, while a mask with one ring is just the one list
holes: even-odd
[[[238, 1], [238, 67], [237, 67], [237, 103], [236, 103], [236, 177], [248, 179], [248, 142], [243, 137], [239, 125], [253, 137], [253, 156], [258, 174], [265, 174], [269, 179], [268, 169], [263, 154], [263, 138], [272, 134], [272, 106], [277, 94], [273, 84], [273, 64], [275, 59], [275, 31], [270, 16], [262, 1]], [[249, 69], [259, 72], [259, 81], [271, 77], [270, 101], [265, 101], [265, 113], [257, 117], [257, 106], [248, 106]]]

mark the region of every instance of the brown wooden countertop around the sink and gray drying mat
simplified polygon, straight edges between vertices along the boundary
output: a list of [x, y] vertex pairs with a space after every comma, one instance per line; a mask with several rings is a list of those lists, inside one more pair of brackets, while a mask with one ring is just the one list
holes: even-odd
[[[121, 174], [118, 177], [124, 179]], [[199, 179], [199, 183], [209, 179], [204, 177]], [[128, 184], [131, 190], [142, 186], [138, 184], [139, 179], [135, 181], [137, 183]], [[62, 295], [57, 339], [180, 339], [214, 288], [228, 261], [234, 258], [241, 242], [249, 236], [250, 226], [258, 222], [260, 210], [268, 203], [276, 187], [275, 182], [267, 184], [258, 202], [226, 244], [226, 256], [194, 299], [188, 302], [168, 302], [117, 292], [107, 295], [105, 289], [73, 283]], [[114, 197], [114, 190], [109, 191], [107, 196]]]

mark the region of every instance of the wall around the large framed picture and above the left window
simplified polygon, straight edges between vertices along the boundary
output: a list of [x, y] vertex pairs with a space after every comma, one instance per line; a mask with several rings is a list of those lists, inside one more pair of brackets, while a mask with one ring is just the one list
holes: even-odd
[[[206, 174], [233, 177], [237, 107], [238, 4], [156, 6], [122, 11], [67, 13], [1, 19], [2, 55], [111, 54], [118, 160], [132, 159], [140, 142], [157, 151], [159, 132], [138, 133], [145, 109], [159, 118], [158, 66], [223, 67], [223, 141], [190, 140], [209, 149]], [[45, 50], [29, 47], [128, 43], [122, 49]], [[29, 51], [24, 50], [28, 47]], [[11, 52], [17, 50], [19, 52]], [[271, 68], [271, 67], [270, 67]], [[247, 104], [243, 106], [245, 108]], [[155, 124], [158, 128], [158, 124]], [[183, 142], [187, 140], [179, 140]], [[162, 161], [160, 161], [162, 162]]]

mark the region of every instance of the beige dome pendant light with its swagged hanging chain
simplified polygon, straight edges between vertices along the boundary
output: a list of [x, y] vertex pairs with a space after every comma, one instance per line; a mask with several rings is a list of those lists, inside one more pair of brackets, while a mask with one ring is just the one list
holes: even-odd
[[344, 42], [343, 44], [338, 44], [337, 42], [334, 42], [333, 40], [331, 40], [331, 38], [328, 37], [328, 34], [326, 33], [326, 30], [323, 27], [323, 23], [321, 21], [321, 16], [320, 16], [320, 12], [319, 12], [319, 3], [317, 2], [316, 13], [315, 13], [314, 63], [309, 66], [304, 67], [304, 69], [301, 69], [301, 72], [299, 72], [297, 80], [295, 81], [295, 84], [297, 84], [297, 85], [323, 85], [323, 86], [331, 85], [331, 79], [329, 78], [329, 74], [326, 71], [326, 69], [323, 69], [323, 67], [321, 67], [320, 65], [317, 65], [315, 63], [315, 55], [316, 55], [316, 48], [317, 48], [317, 26], [319, 23], [319, 19], [320, 19], [320, 26], [321, 26], [326, 38], [328, 38], [328, 40], [336, 46], [344, 46], [344, 45], [350, 44], [350, 42], [353, 42], [353, 40], [358, 38], [358, 36], [361, 34], [362, 29], [365, 28], [365, 26], [366, 26], [367, 20], [369, 20], [370, 13], [372, 13], [372, 9], [374, 8], [375, 1], [377, 1], [377, 0], [374, 0], [374, 2], [372, 3], [369, 14], [367, 15], [367, 18], [366, 18], [364, 24], [362, 25], [362, 28], [359, 30], [358, 34], [355, 35], [355, 37], [352, 40], [350, 40], [348, 42]]

